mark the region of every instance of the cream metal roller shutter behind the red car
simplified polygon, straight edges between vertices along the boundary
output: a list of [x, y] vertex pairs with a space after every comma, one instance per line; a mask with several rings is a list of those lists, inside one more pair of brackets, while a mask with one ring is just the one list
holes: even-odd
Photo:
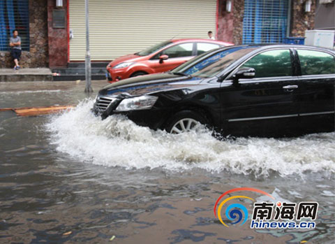
[[[70, 0], [70, 61], [84, 60], [84, 0]], [[112, 60], [171, 38], [208, 38], [216, 31], [216, 0], [91, 0], [92, 60]]]

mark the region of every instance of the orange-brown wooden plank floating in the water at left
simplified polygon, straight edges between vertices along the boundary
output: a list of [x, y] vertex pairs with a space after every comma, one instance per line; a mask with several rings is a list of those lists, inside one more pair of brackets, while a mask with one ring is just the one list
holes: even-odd
[[74, 106], [45, 106], [29, 108], [0, 108], [0, 111], [13, 110], [19, 116], [37, 116], [47, 115], [50, 113], [59, 113], [63, 110], [73, 108]]

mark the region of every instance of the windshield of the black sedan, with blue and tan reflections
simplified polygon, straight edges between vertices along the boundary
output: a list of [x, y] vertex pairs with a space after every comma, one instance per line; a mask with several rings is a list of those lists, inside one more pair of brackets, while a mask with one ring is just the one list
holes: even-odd
[[209, 78], [227, 68], [234, 61], [252, 52], [258, 47], [239, 46], [236, 48], [227, 48], [221, 51], [209, 51], [191, 59], [185, 64], [181, 64], [172, 73], [185, 73], [186, 75]]

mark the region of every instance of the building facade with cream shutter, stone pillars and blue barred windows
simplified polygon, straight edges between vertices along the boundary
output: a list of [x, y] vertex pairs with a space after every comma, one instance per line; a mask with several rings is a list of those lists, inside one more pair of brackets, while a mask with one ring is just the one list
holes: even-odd
[[[91, 60], [110, 61], [170, 38], [207, 38], [207, 31], [237, 45], [281, 43], [314, 29], [317, 8], [334, 8], [334, 0], [320, 1], [91, 0]], [[56, 2], [0, 0], [0, 68], [13, 66], [8, 48], [13, 29], [23, 35], [23, 67], [84, 61], [84, 0]]]

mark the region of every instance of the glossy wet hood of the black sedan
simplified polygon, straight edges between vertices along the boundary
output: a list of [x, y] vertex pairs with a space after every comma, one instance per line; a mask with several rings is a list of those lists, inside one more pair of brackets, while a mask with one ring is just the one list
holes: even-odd
[[170, 89], [183, 89], [197, 86], [202, 78], [190, 76], [177, 76], [172, 73], [158, 73], [147, 76], [137, 76], [107, 85], [99, 94], [118, 96], [140, 96]]

